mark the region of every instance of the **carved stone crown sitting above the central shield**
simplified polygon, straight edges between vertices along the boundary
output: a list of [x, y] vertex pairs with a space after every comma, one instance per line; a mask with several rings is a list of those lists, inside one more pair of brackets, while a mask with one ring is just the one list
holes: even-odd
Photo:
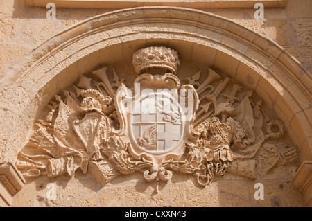
[[136, 51], [132, 63], [138, 74], [146, 69], [166, 69], [175, 74], [180, 60], [177, 51], [171, 48], [152, 46]]

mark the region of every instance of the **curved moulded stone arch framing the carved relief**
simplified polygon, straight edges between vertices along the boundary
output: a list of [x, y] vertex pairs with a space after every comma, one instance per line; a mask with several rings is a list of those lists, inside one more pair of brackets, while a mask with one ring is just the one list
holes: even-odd
[[171, 7], [130, 8], [87, 19], [47, 39], [8, 73], [1, 80], [3, 159], [15, 161], [33, 121], [56, 91], [87, 70], [129, 60], [133, 51], [155, 44], [254, 89], [286, 125], [301, 161], [312, 159], [311, 74], [300, 62], [229, 19]]

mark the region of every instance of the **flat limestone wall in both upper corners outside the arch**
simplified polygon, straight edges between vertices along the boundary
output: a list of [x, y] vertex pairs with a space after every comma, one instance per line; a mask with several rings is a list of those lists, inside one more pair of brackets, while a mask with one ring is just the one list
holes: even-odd
[[[286, 8], [265, 8], [264, 20], [254, 19], [252, 8], [204, 9], [233, 19], [270, 39], [312, 72], [312, 2], [289, 0]], [[0, 78], [21, 62], [25, 55], [61, 30], [110, 9], [58, 8], [55, 20], [46, 19], [47, 9], [31, 7], [25, 1], [0, 1]]]

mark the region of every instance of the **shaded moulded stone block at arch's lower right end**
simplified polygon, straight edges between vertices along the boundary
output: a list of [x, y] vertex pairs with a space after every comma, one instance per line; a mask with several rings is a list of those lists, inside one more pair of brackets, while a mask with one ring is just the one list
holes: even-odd
[[304, 195], [306, 205], [312, 207], [312, 161], [304, 161], [293, 177], [293, 185]]

